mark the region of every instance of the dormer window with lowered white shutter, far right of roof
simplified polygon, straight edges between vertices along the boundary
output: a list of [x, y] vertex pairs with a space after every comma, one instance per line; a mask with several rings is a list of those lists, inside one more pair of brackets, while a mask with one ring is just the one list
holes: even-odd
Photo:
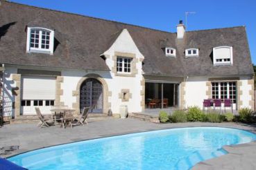
[[232, 46], [219, 46], [213, 48], [213, 62], [214, 66], [232, 65], [233, 52]]

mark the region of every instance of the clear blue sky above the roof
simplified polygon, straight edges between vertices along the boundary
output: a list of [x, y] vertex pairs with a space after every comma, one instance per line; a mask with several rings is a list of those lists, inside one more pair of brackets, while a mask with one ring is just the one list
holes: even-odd
[[176, 32], [185, 12], [187, 30], [246, 26], [250, 55], [256, 64], [256, 0], [11, 0], [31, 6]]

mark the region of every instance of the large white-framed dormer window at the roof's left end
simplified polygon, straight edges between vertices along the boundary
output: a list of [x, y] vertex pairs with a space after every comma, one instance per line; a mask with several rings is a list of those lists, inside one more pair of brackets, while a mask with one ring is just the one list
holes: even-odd
[[27, 53], [50, 53], [53, 55], [54, 31], [47, 28], [30, 28], [27, 31]]

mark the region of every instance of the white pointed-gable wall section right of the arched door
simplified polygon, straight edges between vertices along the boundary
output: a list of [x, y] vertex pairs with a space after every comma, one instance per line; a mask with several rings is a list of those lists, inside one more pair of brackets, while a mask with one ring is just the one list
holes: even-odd
[[[130, 37], [129, 32], [126, 29], [121, 32], [117, 40], [114, 41], [114, 44], [104, 53], [104, 55], [110, 56], [106, 59], [106, 64], [110, 69], [114, 66], [112, 58], [114, 56], [114, 52], [134, 53], [137, 59], [144, 59], [144, 56], [139, 52], [133, 38]], [[128, 112], [142, 111], [142, 106], [140, 105], [140, 102], [142, 101], [142, 95], [140, 95], [142, 86], [140, 81], [143, 78], [141, 61], [136, 64], [136, 68], [138, 73], [135, 77], [121, 77], [115, 76], [114, 73], [111, 73], [112, 80], [110, 81], [109, 89], [112, 91], [110, 102], [112, 103], [111, 106], [113, 113], [119, 113], [119, 107], [122, 104], [126, 104], [128, 106]], [[121, 102], [121, 99], [119, 99], [119, 93], [121, 93], [121, 89], [123, 88], [128, 88], [130, 93], [132, 93], [132, 98], [128, 102]]]

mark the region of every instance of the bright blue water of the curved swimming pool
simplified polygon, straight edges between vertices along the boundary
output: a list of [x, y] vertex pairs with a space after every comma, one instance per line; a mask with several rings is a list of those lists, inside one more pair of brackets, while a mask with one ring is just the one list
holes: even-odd
[[226, 154], [223, 145], [256, 140], [238, 129], [167, 129], [87, 140], [8, 158], [28, 169], [190, 169]]

